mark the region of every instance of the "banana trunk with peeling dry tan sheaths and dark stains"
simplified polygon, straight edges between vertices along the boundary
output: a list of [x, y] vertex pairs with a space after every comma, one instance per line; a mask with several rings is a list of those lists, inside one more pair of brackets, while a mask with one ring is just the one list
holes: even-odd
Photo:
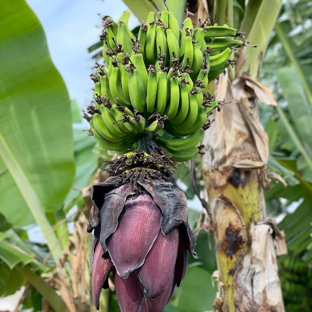
[[[202, 5], [207, 4], [206, 0], [197, 2], [193, 21], [207, 14], [207, 5]], [[231, 4], [232, 1], [219, 2], [216, 10]], [[263, 0], [257, 21], [261, 21], [259, 12], [265, 12], [266, 4]], [[274, 222], [265, 219], [264, 191], [269, 184], [265, 167], [269, 149], [257, 100], [270, 105], [276, 103], [271, 92], [254, 80], [279, 8], [280, 3], [270, 8], [270, 20], [262, 18], [266, 22], [266, 37], [260, 36], [261, 42], [251, 41], [259, 49], [249, 51], [246, 57], [242, 55], [244, 63], [236, 68], [236, 78], [231, 82], [228, 74], [219, 76], [214, 95], [217, 101], [227, 104], [210, 116], [215, 122], [202, 140], [206, 148], [202, 171], [226, 311], [285, 311], [275, 252], [275, 246], [277, 253], [285, 252], [284, 237]], [[219, 16], [222, 23], [231, 26], [232, 17], [222, 19], [220, 14], [214, 12], [214, 17]], [[253, 28], [256, 30], [257, 25]], [[249, 37], [255, 37], [252, 36], [251, 29]], [[248, 65], [248, 56], [251, 61], [258, 56], [257, 63]], [[246, 70], [250, 67], [252, 71]]]

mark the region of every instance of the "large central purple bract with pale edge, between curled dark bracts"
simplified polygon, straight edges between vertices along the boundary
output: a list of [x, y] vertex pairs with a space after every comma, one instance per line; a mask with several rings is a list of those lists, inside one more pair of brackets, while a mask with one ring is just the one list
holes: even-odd
[[148, 194], [127, 200], [107, 248], [121, 277], [139, 268], [160, 230], [161, 211]]

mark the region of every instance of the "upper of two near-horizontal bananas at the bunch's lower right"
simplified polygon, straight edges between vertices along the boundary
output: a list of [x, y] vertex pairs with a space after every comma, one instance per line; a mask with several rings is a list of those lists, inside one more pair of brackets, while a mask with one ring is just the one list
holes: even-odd
[[163, 139], [160, 136], [156, 136], [155, 141], [166, 145], [169, 149], [180, 151], [196, 146], [202, 140], [203, 135], [204, 129], [200, 128], [195, 133], [189, 135], [187, 138], [180, 137], [177, 139]]

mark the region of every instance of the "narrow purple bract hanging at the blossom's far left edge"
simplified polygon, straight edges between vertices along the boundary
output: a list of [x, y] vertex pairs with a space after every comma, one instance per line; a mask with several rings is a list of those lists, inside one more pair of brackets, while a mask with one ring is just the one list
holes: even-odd
[[92, 263], [92, 298], [94, 305], [98, 310], [101, 290], [113, 268], [113, 262], [110, 261], [110, 258], [105, 260], [102, 258], [102, 254], [102, 246], [100, 242], [96, 240]]

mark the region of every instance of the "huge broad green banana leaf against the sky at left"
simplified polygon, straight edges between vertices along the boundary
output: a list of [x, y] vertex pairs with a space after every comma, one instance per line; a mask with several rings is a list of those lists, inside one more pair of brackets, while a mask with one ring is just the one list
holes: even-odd
[[70, 100], [35, 14], [1, 3], [1, 211], [14, 227], [48, 225], [42, 211], [59, 210], [74, 179]]

